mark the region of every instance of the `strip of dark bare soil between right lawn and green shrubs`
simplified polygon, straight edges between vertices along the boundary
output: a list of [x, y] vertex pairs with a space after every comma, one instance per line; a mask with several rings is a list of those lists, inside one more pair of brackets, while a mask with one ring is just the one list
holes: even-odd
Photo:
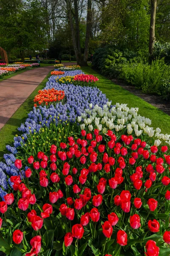
[[117, 79], [112, 79], [112, 81], [170, 116], [170, 100], [163, 100], [159, 95], [142, 93], [142, 90], [136, 89], [136, 87], [125, 84]]

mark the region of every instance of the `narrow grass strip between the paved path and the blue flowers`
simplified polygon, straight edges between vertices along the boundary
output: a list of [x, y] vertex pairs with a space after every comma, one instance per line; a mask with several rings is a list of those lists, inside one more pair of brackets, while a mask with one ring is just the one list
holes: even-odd
[[34, 96], [37, 94], [38, 90], [41, 90], [45, 87], [45, 84], [48, 81], [48, 77], [50, 76], [51, 71], [39, 84], [39, 86], [31, 93], [28, 99], [26, 99], [26, 101], [20, 106], [20, 108], [17, 109], [13, 116], [11, 116], [3, 128], [0, 129], [0, 161], [3, 160], [3, 154], [8, 152], [6, 150], [6, 145], [12, 145], [11, 143], [14, 141], [14, 136], [18, 133], [17, 128], [21, 125], [21, 123], [25, 122], [28, 113], [32, 110], [34, 106]]

